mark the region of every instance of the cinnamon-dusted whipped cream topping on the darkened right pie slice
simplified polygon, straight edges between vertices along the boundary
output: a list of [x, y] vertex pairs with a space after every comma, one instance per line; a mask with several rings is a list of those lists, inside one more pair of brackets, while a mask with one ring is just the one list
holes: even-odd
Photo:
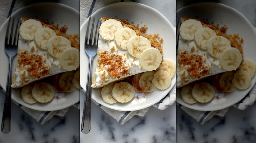
[[180, 36], [178, 42], [177, 87], [183, 87], [193, 81], [227, 71], [222, 69], [218, 58], [211, 56], [207, 51], [198, 49], [194, 40], [185, 41]]

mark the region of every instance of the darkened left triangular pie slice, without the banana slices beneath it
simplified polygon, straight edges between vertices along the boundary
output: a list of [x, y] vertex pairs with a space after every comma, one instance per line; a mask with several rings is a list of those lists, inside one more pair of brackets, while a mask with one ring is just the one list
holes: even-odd
[[[63, 34], [67, 28], [55, 27], [47, 20], [23, 17], [21, 22], [18, 64], [12, 80], [12, 88], [23, 87], [45, 77], [73, 71], [79, 67], [79, 42], [76, 40], [78, 35]], [[69, 61], [70, 56], [74, 57], [71, 59], [76, 60]]]

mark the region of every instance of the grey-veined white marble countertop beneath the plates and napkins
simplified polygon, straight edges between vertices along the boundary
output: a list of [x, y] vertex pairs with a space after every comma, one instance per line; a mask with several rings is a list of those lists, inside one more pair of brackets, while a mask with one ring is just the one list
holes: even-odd
[[[85, 1], [86, 4], [91, 5], [92, 3], [92, 1], [89, 0]], [[23, 1], [18, 2], [22, 3]], [[62, 0], [59, 2], [67, 4], [79, 11], [79, 0]], [[162, 3], [157, 3], [154, 0], [138, 0], [136, 2], [157, 9], [176, 26], [175, 0], [162, 1]], [[219, 2], [236, 8], [243, 13], [255, 27], [255, 1], [242, 1], [244, 4], [243, 8], [241, 8], [238, 1], [230, 2], [220, 0]], [[190, 3], [191, 1], [188, 0], [179, 1], [177, 8], [181, 8]], [[252, 7], [253, 9], [246, 8], [245, 6]], [[252, 11], [251, 14], [249, 14], [250, 12], [248, 12], [248, 10]], [[80, 15], [80, 24], [83, 23], [86, 18], [87, 15]], [[81, 98], [81, 101], [83, 102], [83, 98]], [[0, 91], [1, 118], [3, 114], [3, 102], [4, 93]], [[83, 106], [81, 105], [81, 107]], [[231, 107], [224, 117], [214, 116], [204, 125], [200, 125], [195, 119], [181, 110], [181, 108], [173, 104], [165, 110], [150, 107], [144, 117], [134, 116], [124, 125], [120, 125], [114, 118], [104, 112], [100, 107], [96, 106], [96, 104], [92, 103], [92, 129], [89, 134], [83, 134], [80, 132], [81, 124], [79, 122], [80, 116], [82, 115], [80, 115], [80, 111], [74, 107], [69, 109], [65, 117], [54, 116], [44, 125], [40, 125], [20, 107], [12, 104], [11, 132], [9, 134], [0, 132], [0, 142], [249, 143], [256, 142], [255, 109], [255, 103], [243, 111]]]

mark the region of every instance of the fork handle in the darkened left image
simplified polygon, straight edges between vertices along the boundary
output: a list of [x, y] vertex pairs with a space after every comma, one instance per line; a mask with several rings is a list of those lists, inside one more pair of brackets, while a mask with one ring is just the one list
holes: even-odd
[[7, 84], [5, 90], [5, 102], [4, 111], [2, 118], [1, 130], [3, 133], [7, 134], [11, 130], [11, 69], [12, 69], [12, 56], [9, 57], [8, 74], [7, 74]]

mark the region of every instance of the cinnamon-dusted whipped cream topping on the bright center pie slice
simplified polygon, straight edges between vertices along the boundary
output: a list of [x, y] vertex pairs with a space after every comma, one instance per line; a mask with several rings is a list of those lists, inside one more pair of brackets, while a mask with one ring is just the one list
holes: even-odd
[[147, 71], [141, 68], [139, 58], [133, 57], [127, 50], [118, 49], [115, 41], [105, 41], [100, 35], [97, 56], [92, 88], [103, 87], [114, 81]]

